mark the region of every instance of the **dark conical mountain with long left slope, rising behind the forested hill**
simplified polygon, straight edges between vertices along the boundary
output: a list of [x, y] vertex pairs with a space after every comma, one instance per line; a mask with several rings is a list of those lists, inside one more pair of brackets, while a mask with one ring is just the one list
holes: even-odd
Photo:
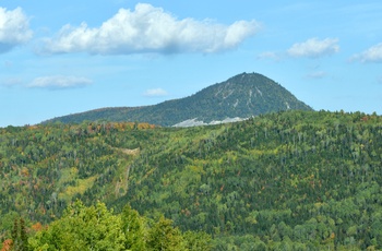
[[216, 123], [229, 118], [243, 119], [288, 109], [312, 110], [268, 77], [258, 73], [242, 73], [189, 97], [153, 106], [96, 109], [55, 118], [44, 123], [107, 120], [139, 121], [171, 127], [190, 124], [190, 122], [191, 124]]

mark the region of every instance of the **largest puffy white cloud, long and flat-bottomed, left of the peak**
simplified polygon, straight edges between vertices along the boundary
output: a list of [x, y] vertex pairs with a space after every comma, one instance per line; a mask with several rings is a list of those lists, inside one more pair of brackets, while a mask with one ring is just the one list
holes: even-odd
[[226, 26], [207, 20], [177, 20], [162, 8], [138, 3], [133, 11], [120, 9], [99, 27], [63, 26], [55, 38], [45, 39], [43, 52], [210, 53], [237, 47], [259, 27], [255, 21]]

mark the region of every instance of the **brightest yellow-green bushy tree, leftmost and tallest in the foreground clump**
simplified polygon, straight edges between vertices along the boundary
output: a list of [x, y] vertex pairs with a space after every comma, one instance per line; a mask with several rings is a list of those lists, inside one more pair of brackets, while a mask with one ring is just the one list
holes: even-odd
[[29, 240], [33, 250], [126, 250], [124, 242], [120, 217], [103, 203], [85, 207], [80, 201]]

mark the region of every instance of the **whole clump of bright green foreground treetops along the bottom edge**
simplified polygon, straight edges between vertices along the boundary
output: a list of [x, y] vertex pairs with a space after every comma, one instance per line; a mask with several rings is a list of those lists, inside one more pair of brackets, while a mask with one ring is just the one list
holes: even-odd
[[130, 206], [115, 215], [104, 203], [86, 207], [76, 201], [60, 219], [31, 236], [28, 247], [15, 250], [211, 250], [205, 232], [188, 231], [190, 243], [170, 219], [162, 216], [152, 227], [144, 225], [147, 220]]

